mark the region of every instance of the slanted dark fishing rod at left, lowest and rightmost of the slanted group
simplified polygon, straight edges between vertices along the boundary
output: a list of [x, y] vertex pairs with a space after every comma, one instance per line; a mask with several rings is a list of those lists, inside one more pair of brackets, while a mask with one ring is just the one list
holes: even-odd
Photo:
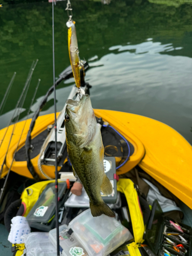
[[[16, 146], [16, 149], [15, 149], [14, 154], [13, 154], [13, 159], [12, 159], [11, 165], [10, 165], [10, 167], [9, 167], [9, 170], [8, 170], [8, 173], [7, 173], [7, 176], [6, 176], [6, 179], [5, 179], [5, 181], [4, 181], [4, 185], [3, 185], [2, 189], [1, 189], [1, 193], [0, 193], [0, 205], [1, 205], [1, 203], [2, 203], [2, 199], [3, 199], [3, 195], [4, 195], [4, 190], [5, 190], [5, 187], [6, 187], [6, 185], [7, 185], [7, 180], [8, 180], [8, 177], [9, 177], [9, 174], [10, 174], [10, 171], [11, 171], [11, 168], [12, 168], [12, 165], [13, 165], [13, 161], [14, 161], [14, 159], [15, 159], [15, 155], [16, 155], [17, 150], [18, 150], [18, 146], [19, 146], [19, 143], [20, 143], [20, 139], [22, 138], [22, 135], [23, 135], [23, 132], [24, 132], [24, 129], [25, 129], [27, 120], [28, 120], [28, 118], [29, 118], [29, 114], [30, 114], [31, 107], [32, 107], [32, 105], [33, 105], [33, 101], [34, 101], [34, 99], [35, 99], [35, 96], [36, 96], [36, 93], [37, 93], [37, 90], [38, 90], [38, 87], [39, 87], [39, 83], [40, 83], [40, 79], [38, 79], [37, 86], [36, 86], [36, 88], [35, 88], [35, 92], [34, 92], [34, 95], [33, 95], [32, 100], [31, 100], [31, 104], [30, 104], [30, 106], [29, 106], [29, 110], [28, 110], [28, 113], [27, 113], [27, 118], [26, 118], [26, 120], [25, 120], [22, 133], [20, 134], [19, 140], [18, 140], [18, 142], [17, 142], [17, 146]], [[28, 87], [28, 88], [29, 88], [29, 87]], [[26, 95], [27, 95], [27, 93], [26, 93]]]

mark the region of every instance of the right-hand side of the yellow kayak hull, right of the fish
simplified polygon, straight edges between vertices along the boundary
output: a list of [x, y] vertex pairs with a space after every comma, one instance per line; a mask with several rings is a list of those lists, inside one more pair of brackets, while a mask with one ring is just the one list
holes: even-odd
[[172, 127], [157, 120], [117, 111], [96, 111], [96, 115], [101, 113], [121, 133], [132, 133], [140, 140], [145, 155], [139, 166], [192, 209], [192, 146]]

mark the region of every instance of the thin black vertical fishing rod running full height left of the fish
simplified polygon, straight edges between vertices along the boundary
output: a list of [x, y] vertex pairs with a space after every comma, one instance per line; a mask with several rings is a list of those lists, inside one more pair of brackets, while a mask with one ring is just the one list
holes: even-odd
[[[54, 1], [53, 1], [54, 2]], [[58, 172], [57, 172], [57, 117], [56, 117], [56, 84], [55, 84], [55, 46], [54, 46], [54, 3], [52, 2], [52, 39], [53, 39], [53, 84], [54, 84], [54, 117], [55, 117], [55, 217], [57, 236], [57, 256], [59, 251], [59, 209], [58, 209]]]

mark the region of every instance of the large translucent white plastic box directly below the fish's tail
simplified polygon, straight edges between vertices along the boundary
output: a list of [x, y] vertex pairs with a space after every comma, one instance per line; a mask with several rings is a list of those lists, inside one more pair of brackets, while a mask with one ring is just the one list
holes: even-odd
[[130, 231], [115, 218], [93, 217], [85, 210], [69, 223], [76, 238], [91, 256], [105, 256], [133, 238]]

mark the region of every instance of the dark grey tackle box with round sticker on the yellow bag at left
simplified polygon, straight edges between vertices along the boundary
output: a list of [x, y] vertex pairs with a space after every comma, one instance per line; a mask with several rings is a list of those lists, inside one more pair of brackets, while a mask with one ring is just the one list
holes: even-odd
[[[67, 183], [58, 183], [59, 207], [64, 204]], [[49, 183], [26, 217], [29, 226], [48, 232], [55, 225], [55, 183]]]

